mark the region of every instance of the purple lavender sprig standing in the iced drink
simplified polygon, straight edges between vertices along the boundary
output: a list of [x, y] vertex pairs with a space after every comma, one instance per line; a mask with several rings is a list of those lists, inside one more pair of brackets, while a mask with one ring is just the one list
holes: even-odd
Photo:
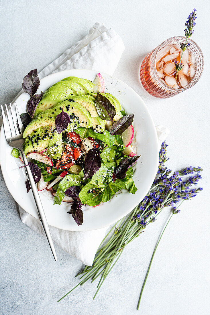
[[177, 71], [176, 79], [177, 79], [178, 72], [183, 68], [183, 65], [181, 63], [183, 53], [187, 49], [187, 47], [190, 46], [190, 43], [187, 43], [187, 40], [194, 33], [194, 31], [192, 29], [195, 26], [195, 20], [197, 19], [195, 11], [196, 11], [196, 9], [193, 9], [193, 11], [188, 16], [187, 22], [185, 24], [185, 26], [187, 26], [185, 28], [185, 30], [184, 30], [184, 32], [185, 32], [184, 34], [185, 34], [186, 40], [185, 40], [185, 43], [180, 43], [180, 47], [182, 49], [182, 55], [181, 55], [180, 61], [179, 62], [177, 62], [177, 61], [174, 62], [175, 63], [175, 67], [176, 67], [176, 71]]

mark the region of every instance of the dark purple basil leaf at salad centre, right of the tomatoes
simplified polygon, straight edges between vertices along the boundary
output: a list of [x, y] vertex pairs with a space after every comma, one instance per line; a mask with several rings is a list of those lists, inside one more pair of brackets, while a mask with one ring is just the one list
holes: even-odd
[[92, 177], [101, 167], [99, 147], [90, 149], [85, 157], [84, 180]]

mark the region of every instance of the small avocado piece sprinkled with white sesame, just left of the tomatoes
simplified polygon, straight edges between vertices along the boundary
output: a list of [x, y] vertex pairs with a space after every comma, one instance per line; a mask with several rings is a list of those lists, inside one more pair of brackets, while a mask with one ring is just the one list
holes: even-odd
[[[51, 139], [52, 138], [52, 139]], [[59, 159], [62, 155], [62, 132], [59, 135], [57, 130], [51, 133], [47, 153], [52, 159]]]

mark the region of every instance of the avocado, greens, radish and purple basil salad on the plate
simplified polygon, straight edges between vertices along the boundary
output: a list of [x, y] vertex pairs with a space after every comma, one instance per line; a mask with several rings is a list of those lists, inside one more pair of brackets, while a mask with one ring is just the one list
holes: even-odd
[[[39, 84], [36, 70], [24, 77], [23, 89], [31, 96], [27, 113], [20, 115], [24, 153], [32, 161], [38, 190], [50, 191], [54, 204], [70, 202], [68, 213], [79, 226], [82, 205], [98, 206], [122, 188], [137, 191], [132, 180], [138, 159], [131, 147], [134, 114], [127, 115], [120, 102], [104, 92], [100, 73], [94, 82], [67, 77], [35, 94]], [[16, 149], [12, 154], [20, 156]]]

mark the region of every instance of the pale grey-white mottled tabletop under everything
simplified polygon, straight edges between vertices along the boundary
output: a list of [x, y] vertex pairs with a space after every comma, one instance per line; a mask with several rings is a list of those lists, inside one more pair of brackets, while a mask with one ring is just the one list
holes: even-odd
[[[173, 98], [154, 98], [139, 83], [140, 63], [165, 39], [184, 34], [193, 5], [197, 25], [192, 39], [204, 54], [202, 77]], [[209, 9], [207, 2], [192, 4], [189, 0], [1, 1], [1, 103], [13, 100], [31, 69], [40, 71], [84, 37], [96, 21], [105, 23], [125, 44], [115, 77], [143, 98], [155, 124], [171, 131], [168, 167], [203, 167], [200, 185], [204, 190], [185, 201], [181, 213], [167, 227], [137, 312], [143, 279], [169, 209], [127, 247], [95, 300], [96, 284], [88, 282], [56, 303], [78, 283], [74, 276], [82, 264], [59, 247], [58, 261], [52, 260], [46, 240], [20, 221], [17, 205], [1, 177], [0, 313], [209, 314]]]

